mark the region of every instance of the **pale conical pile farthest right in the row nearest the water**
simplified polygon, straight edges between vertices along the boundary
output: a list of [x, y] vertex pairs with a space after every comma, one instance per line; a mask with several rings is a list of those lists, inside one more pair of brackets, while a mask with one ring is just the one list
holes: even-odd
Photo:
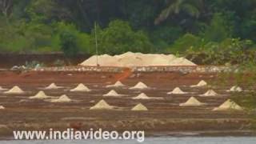
[[221, 106], [214, 108], [214, 110], [242, 110], [242, 107], [228, 99]]

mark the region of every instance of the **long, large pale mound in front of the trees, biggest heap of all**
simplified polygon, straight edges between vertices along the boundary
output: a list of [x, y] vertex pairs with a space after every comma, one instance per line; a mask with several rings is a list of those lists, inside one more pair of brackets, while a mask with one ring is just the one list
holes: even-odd
[[[125, 54], [110, 56], [98, 55], [99, 66], [196, 66], [186, 58], [176, 58], [173, 54], [142, 54], [127, 52]], [[82, 66], [96, 66], [97, 56], [94, 55], [82, 62]]]

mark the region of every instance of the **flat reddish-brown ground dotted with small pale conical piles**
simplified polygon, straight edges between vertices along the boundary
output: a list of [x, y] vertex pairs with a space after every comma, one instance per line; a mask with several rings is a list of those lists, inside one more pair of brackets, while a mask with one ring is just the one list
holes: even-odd
[[[232, 82], [222, 85], [217, 82], [217, 74], [180, 74], [180, 73], [138, 73], [132, 74], [124, 70], [124, 74], [97, 73], [97, 72], [0, 72], [0, 86], [10, 88], [18, 85], [26, 94], [7, 95], [0, 94], [0, 135], [11, 135], [11, 130], [47, 130], [50, 127], [65, 129], [86, 130], [103, 128], [106, 130], [146, 130], [146, 134], [169, 134], [181, 131], [232, 131], [244, 134], [250, 130], [251, 115], [246, 112], [217, 112], [212, 111], [232, 95], [226, 90], [233, 86]], [[214, 84], [213, 89], [222, 94], [216, 98], [198, 97], [209, 88], [190, 88], [201, 79]], [[134, 86], [137, 82], [144, 82], [150, 86], [149, 90], [129, 90], [128, 87], [116, 88], [119, 94], [126, 94], [123, 98], [104, 98], [119, 110], [89, 110], [96, 102], [101, 100], [110, 88], [105, 86], [121, 80], [126, 86]], [[67, 94], [74, 102], [50, 103], [42, 100], [30, 100], [28, 97], [40, 90], [40, 87], [55, 82], [65, 88], [60, 90], [45, 90], [51, 96]], [[78, 83], [84, 83], [91, 92], [70, 92]], [[194, 92], [185, 95], [167, 95], [174, 87], [180, 86], [182, 90]], [[162, 97], [164, 100], [133, 100], [132, 97], [144, 92], [150, 97]], [[206, 102], [206, 106], [181, 107], [190, 96]], [[130, 109], [142, 102], [149, 111], [134, 112]]]

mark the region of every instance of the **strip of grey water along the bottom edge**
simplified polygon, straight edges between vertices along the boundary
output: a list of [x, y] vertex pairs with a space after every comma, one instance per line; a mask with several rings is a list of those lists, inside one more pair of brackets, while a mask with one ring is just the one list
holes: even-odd
[[[136, 144], [136, 140], [85, 140], [85, 141], [0, 141], [1, 144]], [[256, 137], [182, 137], [182, 138], [146, 138], [142, 143], [149, 144], [255, 144]]]

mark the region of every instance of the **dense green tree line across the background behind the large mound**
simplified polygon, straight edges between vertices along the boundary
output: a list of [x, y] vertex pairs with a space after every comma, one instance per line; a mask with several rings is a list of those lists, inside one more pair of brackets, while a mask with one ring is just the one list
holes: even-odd
[[[255, 0], [0, 0], [0, 51], [253, 50]], [[238, 51], [239, 51], [238, 50]]]

